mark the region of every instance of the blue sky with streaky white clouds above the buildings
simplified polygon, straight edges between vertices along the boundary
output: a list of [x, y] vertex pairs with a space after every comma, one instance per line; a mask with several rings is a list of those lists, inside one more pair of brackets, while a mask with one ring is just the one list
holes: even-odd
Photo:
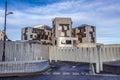
[[[0, 0], [0, 30], [4, 26], [4, 1]], [[72, 27], [96, 26], [97, 43], [120, 44], [120, 0], [8, 0], [7, 36], [21, 40], [27, 26], [52, 27], [55, 17], [70, 17]]]

